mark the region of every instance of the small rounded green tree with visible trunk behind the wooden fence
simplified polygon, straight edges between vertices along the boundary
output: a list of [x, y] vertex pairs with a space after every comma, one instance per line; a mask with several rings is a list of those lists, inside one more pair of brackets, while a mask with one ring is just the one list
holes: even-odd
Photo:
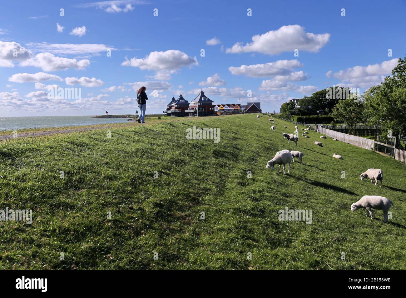
[[354, 134], [355, 125], [364, 121], [364, 103], [362, 100], [354, 100], [352, 96], [341, 99], [333, 108], [332, 116], [339, 123], [345, 123]]

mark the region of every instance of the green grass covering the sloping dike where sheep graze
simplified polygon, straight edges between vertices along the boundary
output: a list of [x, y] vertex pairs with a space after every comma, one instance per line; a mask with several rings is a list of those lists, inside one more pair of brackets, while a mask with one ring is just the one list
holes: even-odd
[[[275, 119], [271, 131], [268, 119], [162, 119], [113, 127], [111, 138], [1, 143], [0, 209], [32, 209], [33, 223], [0, 222], [0, 268], [405, 269], [405, 166], [331, 138], [319, 147], [312, 131], [288, 145], [281, 134], [294, 124]], [[186, 140], [193, 125], [220, 128], [220, 142]], [[304, 164], [267, 169], [282, 149], [302, 151]], [[383, 170], [382, 188], [360, 180], [367, 168]], [[389, 223], [382, 211], [350, 212], [365, 194], [393, 201]], [[285, 207], [312, 209], [313, 222], [279, 221]]]

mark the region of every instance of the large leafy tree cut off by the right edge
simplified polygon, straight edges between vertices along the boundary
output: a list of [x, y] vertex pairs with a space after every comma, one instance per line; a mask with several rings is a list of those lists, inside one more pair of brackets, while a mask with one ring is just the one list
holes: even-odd
[[[382, 125], [393, 136], [406, 134], [406, 57], [399, 58], [391, 76], [363, 95], [369, 125]], [[397, 142], [397, 145], [399, 143]]]

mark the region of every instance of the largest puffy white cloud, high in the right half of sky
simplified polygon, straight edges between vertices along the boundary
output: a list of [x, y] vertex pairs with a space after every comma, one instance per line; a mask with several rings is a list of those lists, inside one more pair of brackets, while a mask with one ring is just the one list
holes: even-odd
[[295, 49], [318, 52], [330, 39], [329, 33], [313, 34], [304, 32], [304, 27], [299, 25], [282, 26], [278, 30], [271, 30], [262, 35], [254, 35], [251, 43], [243, 45], [238, 42], [226, 53], [258, 52], [268, 55], [276, 55], [282, 52], [290, 52]]

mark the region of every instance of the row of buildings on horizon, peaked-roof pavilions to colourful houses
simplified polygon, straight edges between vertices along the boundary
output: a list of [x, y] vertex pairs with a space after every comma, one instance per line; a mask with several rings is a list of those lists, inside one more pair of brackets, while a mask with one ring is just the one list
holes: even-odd
[[166, 106], [164, 114], [167, 116], [207, 116], [212, 114], [233, 114], [233, 113], [260, 113], [260, 102], [248, 102], [248, 104], [214, 104], [203, 91], [197, 95], [190, 103], [179, 95], [178, 99], [172, 97], [172, 100]]

